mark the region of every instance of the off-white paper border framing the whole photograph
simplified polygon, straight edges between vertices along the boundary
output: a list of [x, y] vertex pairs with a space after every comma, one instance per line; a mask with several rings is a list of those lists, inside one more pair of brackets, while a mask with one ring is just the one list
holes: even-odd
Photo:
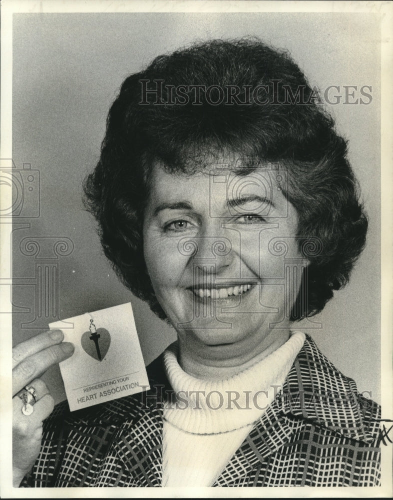
[[[12, 14], [17, 12], [379, 12], [382, 14], [381, 39], [382, 39], [382, 70], [381, 70], [381, 186], [382, 186], [382, 210], [381, 210], [381, 373], [382, 373], [382, 418], [393, 419], [393, 394], [392, 394], [392, 316], [393, 316], [393, 100], [391, 82], [393, 81], [392, 54], [393, 44], [393, 4], [385, 1], [358, 2], [358, 1], [1, 1], [1, 113], [0, 131], [1, 145], [0, 158], [12, 157]], [[4, 224], [5, 225], [5, 224]], [[7, 224], [11, 229], [11, 223]], [[8, 241], [9, 235], [6, 229], [0, 233], [0, 243]], [[9, 245], [1, 244], [1, 274], [11, 276], [11, 257]], [[0, 289], [0, 301], [10, 306], [9, 289]], [[0, 488], [3, 498], [23, 498], [26, 495], [24, 488], [12, 488], [11, 486], [11, 314], [1, 314], [1, 344], [0, 344], [0, 366], [1, 366], [1, 426], [0, 439], [2, 451], [0, 455]], [[393, 438], [392, 433], [390, 434]], [[391, 476], [393, 445], [382, 446], [383, 486], [373, 487], [291, 487], [291, 497], [390, 497], [393, 494], [393, 480]], [[56, 491], [54, 492], [53, 489]], [[288, 496], [288, 488], [29, 488], [29, 497], [257, 497], [261, 493], [270, 497]]]

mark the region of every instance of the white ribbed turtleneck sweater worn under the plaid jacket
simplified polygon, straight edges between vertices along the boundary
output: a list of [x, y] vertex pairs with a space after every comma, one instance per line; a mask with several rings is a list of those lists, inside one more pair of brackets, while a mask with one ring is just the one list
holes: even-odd
[[165, 350], [176, 399], [164, 406], [163, 486], [214, 483], [280, 391], [304, 340], [303, 332], [293, 331], [277, 350], [225, 380], [183, 371], [176, 342]]

